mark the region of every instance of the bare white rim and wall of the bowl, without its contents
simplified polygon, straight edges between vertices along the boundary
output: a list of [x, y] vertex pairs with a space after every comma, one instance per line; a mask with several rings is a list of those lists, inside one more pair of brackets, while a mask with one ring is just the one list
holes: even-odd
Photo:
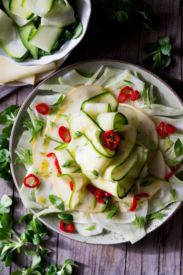
[[55, 51], [54, 54], [49, 56], [41, 56], [38, 60], [33, 59], [32, 57], [29, 57], [27, 59], [24, 59], [22, 62], [15, 62], [13, 59], [1, 48], [0, 46], [0, 56], [14, 62], [19, 65], [46, 65], [53, 61], [59, 60], [69, 54], [83, 39], [86, 30], [88, 28], [90, 16], [91, 16], [91, 1], [90, 0], [76, 0], [76, 9], [78, 12], [78, 15], [80, 16], [81, 23], [83, 24], [83, 32], [80, 35], [80, 37], [76, 39], [68, 40], [64, 43], [64, 45], [60, 48], [60, 50]]

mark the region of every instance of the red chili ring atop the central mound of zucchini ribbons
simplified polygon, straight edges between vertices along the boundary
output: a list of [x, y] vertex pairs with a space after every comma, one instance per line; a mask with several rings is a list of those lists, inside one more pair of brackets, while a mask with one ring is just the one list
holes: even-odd
[[103, 134], [102, 140], [103, 140], [104, 147], [112, 151], [116, 149], [118, 145], [119, 136], [114, 131], [109, 130]]

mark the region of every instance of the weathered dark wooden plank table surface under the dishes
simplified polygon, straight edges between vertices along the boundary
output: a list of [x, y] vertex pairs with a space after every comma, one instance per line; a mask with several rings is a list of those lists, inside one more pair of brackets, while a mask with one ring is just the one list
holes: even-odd
[[[111, 0], [112, 1], [112, 0]], [[97, 0], [92, 0], [92, 14], [89, 27], [82, 42], [72, 51], [61, 67], [80, 61], [113, 59], [140, 65], [151, 70], [166, 81], [177, 94], [182, 94], [182, 1], [146, 0], [159, 18], [159, 25], [148, 30], [139, 24], [114, 27], [102, 21], [97, 14]], [[139, 50], [145, 43], [155, 42], [158, 37], [168, 35], [171, 39], [171, 64], [159, 72], [152, 66], [145, 66], [142, 59], [147, 57]], [[2, 70], [3, 68], [0, 68]], [[36, 86], [36, 85], [35, 85]], [[1, 87], [2, 88], [2, 87]], [[9, 87], [7, 87], [8, 90]], [[18, 87], [0, 100], [0, 111], [10, 105], [21, 106], [34, 86]], [[4, 91], [0, 90], [2, 93]], [[19, 218], [27, 212], [19, 194], [11, 182], [0, 179], [0, 197], [7, 194], [13, 199], [12, 216], [14, 230], [21, 232]], [[48, 238], [43, 246], [49, 249], [44, 267], [50, 263], [63, 264], [65, 259], [75, 261], [73, 274], [182, 274], [182, 206], [163, 226], [146, 235], [135, 244], [123, 243], [109, 246], [80, 243], [62, 237], [48, 229]], [[4, 268], [1, 274], [10, 274], [23, 265], [30, 265], [31, 258], [22, 252], [14, 253], [14, 262]], [[0, 266], [4, 266], [4, 262]]]

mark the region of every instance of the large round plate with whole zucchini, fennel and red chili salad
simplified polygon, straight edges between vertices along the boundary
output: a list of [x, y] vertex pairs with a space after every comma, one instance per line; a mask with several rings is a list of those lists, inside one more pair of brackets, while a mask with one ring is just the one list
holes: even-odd
[[176, 93], [137, 65], [96, 60], [53, 73], [10, 138], [24, 206], [73, 240], [139, 241], [182, 204], [182, 115]]

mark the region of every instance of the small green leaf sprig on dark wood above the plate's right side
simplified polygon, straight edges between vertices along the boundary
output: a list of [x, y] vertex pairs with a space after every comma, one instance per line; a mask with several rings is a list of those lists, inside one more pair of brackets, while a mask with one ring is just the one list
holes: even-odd
[[153, 65], [155, 71], [160, 71], [163, 66], [167, 67], [171, 62], [170, 38], [166, 35], [159, 37], [156, 43], [146, 43], [140, 50], [148, 55], [143, 59], [143, 63]]

